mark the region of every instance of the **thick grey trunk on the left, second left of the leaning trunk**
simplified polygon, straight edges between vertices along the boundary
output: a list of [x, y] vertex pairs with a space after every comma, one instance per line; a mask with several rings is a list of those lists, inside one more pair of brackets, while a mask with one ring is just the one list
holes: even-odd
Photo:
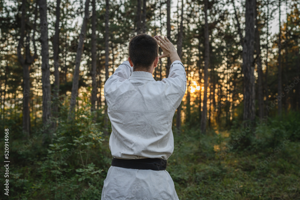
[[[38, 0], [41, 18], [41, 55], [42, 55], [42, 91], [43, 91], [43, 124], [50, 123], [51, 120], [51, 84], [50, 84], [50, 65], [49, 65], [49, 44], [48, 44], [48, 22], [47, 22], [47, 2]], [[49, 127], [49, 126], [46, 126]], [[51, 138], [48, 128], [44, 130], [43, 144], [48, 143]]]

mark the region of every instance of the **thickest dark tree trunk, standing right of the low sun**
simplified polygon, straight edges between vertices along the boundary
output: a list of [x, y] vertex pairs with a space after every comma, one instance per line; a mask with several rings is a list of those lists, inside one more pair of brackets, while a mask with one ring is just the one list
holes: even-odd
[[253, 66], [253, 54], [254, 54], [254, 20], [256, 1], [246, 1], [246, 21], [245, 21], [245, 38], [243, 45], [243, 91], [244, 91], [244, 126], [249, 123], [254, 123], [255, 119], [255, 77]]

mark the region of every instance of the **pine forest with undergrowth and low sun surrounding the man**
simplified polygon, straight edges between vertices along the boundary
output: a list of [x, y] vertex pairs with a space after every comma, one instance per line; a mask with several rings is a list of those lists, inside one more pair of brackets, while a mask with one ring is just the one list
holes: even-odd
[[187, 75], [179, 199], [300, 199], [299, 0], [1, 0], [0, 199], [101, 199], [104, 85], [141, 33], [167, 36]]

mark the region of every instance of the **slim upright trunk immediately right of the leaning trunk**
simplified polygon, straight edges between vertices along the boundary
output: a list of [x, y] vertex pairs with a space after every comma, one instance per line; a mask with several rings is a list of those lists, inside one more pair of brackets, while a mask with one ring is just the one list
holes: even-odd
[[92, 58], [92, 95], [91, 95], [91, 112], [95, 111], [95, 104], [97, 100], [97, 80], [96, 80], [96, 0], [92, 0], [93, 15], [92, 15], [92, 35], [91, 35], [91, 58]]

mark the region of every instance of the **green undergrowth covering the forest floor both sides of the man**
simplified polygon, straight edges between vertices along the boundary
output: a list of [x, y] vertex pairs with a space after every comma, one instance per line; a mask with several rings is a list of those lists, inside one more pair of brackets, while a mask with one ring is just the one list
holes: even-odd
[[[82, 116], [77, 124], [61, 121], [48, 148], [40, 137], [19, 151], [27, 140], [11, 133], [8, 199], [101, 199], [111, 162], [109, 136], [99, 132], [102, 124]], [[269, 118], [251, 131], [238, 123], [205, 135], [187, 125], [180, 135], [174, 131], [167, 171], [179, 199], [300, 199], [299, 117], [291, 113], [283, 120]], [[0, 199], [7, 196], [1, 193]]]

